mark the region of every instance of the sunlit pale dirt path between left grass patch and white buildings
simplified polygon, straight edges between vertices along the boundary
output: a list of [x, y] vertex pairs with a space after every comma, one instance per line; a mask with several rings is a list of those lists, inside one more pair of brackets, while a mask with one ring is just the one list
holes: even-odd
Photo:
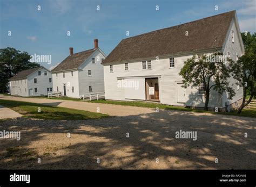
[[[31, 103], [39, 103], [51, 106], [61, 106], [70, 109], [86, 110], [90, 112], [100, 112], [110, 116], [130, 116], [143, 113], [152, 113], [155, 110], [150, 108], [110, 105], [102, 103], [76, 102], [72, 100], [57, 100], [44, 98], [26, 98], [0, 95], [0, 99], [18, 100]], [[98, 110], [99, 109], [99, 110]]]

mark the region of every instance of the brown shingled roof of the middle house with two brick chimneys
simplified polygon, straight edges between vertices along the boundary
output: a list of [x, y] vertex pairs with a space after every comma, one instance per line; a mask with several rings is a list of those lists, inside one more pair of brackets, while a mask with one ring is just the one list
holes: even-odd
[[87, 51], [69, 55], [60, 64], [58, 64], [58, 66], [53, 68], [51, 70], [51, 72], [68, 70], [68, 69], [76, 69], [80, 66], [80, 64], [82, 64], [95, 51], [96, 51], [96, 49], [93, 48], [93, 49], [89, 49]]

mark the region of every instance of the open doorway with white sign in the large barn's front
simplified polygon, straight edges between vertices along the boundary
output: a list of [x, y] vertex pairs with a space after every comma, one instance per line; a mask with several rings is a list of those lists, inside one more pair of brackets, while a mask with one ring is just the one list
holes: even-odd
[[158, 78], [145, 78], [146, 100], [159, 102], [159, 82]]

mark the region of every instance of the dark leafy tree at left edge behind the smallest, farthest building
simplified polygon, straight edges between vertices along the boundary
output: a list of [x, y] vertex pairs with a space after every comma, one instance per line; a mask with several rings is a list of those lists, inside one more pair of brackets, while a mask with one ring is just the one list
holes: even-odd
[[0, 92], [7, 91], [8, 79], [19, 71], [40, 67], [38, 63], [30, 62], [30, 55], [15, 48], [0, 49]]

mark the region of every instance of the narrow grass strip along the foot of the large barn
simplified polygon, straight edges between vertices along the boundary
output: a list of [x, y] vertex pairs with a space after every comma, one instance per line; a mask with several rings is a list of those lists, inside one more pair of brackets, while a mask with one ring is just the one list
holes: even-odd
[[105, 103], [105, 104], [114, 104], [114, 105], [124, 105], [124, 106], [137, 106], [137, 107], [150, 107], [165, 110], [179, 110], [179, 111], [192, 111], [192, 112], [201, 112], [201, 113], [217, 113], [217, 114], [224, 114], [224, 115], [231, 115], [231, 116], [245, 116], [245, 117], [252, 117], [256, 118], [256, 110], [255, 109], [243, 109], [240, 114], [237, 114], [237, 111], [232, 112], [212, 112], [212, 111], [204, 111], [204, 110], [196, 110], [185, 108], [181, 106], [171, 106], [171, 105], [164, 105], [158, 103], [146, 103], [146, 102], [125, 102], [125, 101], [115, 101], [115, 100], [91, 100], [87, 101], [91, 103]]

